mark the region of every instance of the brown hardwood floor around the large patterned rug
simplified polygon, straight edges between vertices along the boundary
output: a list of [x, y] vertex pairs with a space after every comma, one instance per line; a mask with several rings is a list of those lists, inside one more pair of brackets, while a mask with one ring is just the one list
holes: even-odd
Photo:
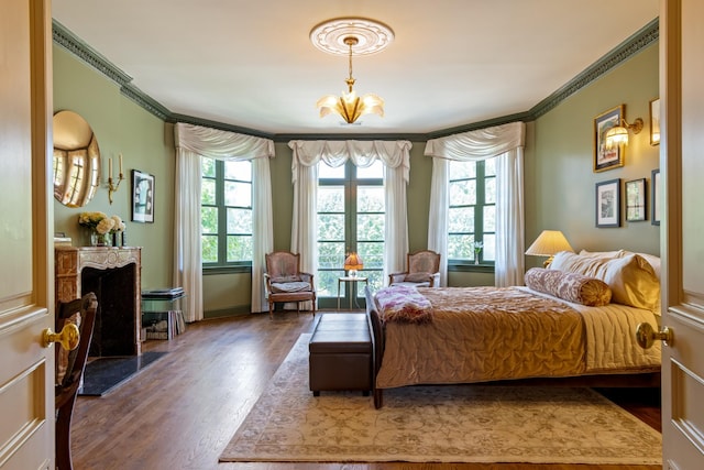
[[[318, 317], [316, 317], [318, 318]], [[76, 470], [563, 470], [575, 466], [459, 463], [218, 463], [301, 332], [309, 314], [276, 313], [207, 320], [145, 351], [170, 351], [103, 397], [78, 397], [74, 412]], [[603, 391], [660, 429], [659, 394]], [[371, 400], [371, 398], [370, 398]], [[660, 466], [578, 466], [580, 470], [656, 470]]]

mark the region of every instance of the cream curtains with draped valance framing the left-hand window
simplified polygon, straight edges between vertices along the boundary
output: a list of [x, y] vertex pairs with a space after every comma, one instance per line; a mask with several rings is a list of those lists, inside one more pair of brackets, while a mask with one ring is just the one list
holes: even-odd
[[204, 317], [202, 261], [200, 247], [200, 159], [252, 162], [252, 311], [264, 311], [264, 253], [274, 247], [272, 182], [268, 159], [274, 142], [268, 139], [176, 123], [176, 189], [174, 223], [174, 285], [187, 293], [187, 320]]

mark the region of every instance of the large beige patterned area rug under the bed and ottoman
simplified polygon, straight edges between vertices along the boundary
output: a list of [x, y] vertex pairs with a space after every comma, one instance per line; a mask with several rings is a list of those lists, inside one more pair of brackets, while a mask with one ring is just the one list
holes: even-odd
[[661, 435], [590, 389], [308, 389], [301, 335], [220, 461], [660, 464]]

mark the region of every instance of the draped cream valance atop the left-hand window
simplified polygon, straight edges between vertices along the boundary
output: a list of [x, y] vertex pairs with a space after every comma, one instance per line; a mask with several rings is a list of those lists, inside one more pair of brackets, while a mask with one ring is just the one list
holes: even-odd
[[274, 141], [201, 125], [176, 123], [176, 149], [221, 160], [253, 160], [274, 156]]

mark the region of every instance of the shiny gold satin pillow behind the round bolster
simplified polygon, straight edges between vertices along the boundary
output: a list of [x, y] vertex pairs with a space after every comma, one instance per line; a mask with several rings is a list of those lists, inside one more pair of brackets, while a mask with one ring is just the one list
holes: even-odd
[[591, 258], [560, 252], [550, 270], [569, 271], [604, 281], [612, 289], [616, 304], [658, 311], [660, 281], [642, 256], [630, 253], [622, 258]]

